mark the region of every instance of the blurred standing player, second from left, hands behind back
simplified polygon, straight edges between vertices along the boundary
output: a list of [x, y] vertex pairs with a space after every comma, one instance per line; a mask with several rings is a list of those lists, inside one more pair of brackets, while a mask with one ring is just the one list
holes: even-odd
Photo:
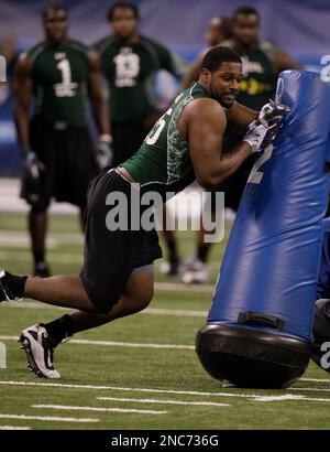
[[146, 132], [163, 114], [153, 105], [156, 72], [166, 69], [182, 77], [186, 66], [168, 49], [140, 33], [135, 4], [114, 3], [107, 19], [111, 34], [98, 41], [95, 49], [109, 88], [112, 163], [117, 165], [139, 150]]

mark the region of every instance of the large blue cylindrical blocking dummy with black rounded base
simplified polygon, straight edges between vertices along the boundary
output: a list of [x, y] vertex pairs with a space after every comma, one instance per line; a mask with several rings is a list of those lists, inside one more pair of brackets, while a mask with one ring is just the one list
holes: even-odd
[[215, 378], [283, 388], [306, 369], [327, 209], [330, 83], [285, 71], [276, 100], [290, 108], [255, 163], [196, 349]]

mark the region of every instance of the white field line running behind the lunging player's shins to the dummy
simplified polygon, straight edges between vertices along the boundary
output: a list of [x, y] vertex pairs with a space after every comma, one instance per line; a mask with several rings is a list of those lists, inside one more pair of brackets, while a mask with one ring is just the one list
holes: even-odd
[[[46, 303], [38, 303], [37, 301], [26, 301], [20, 304], [12, 304], [10, 302], [3, 302], [3, 306], [11, 309], [59, 309], [62, 311], [67, 311], [67, 308], [54, 306]], [[170, 316], [187, 316], [187, 318], [207, 318], [208, 311], [194, 311], [184, 309], [163, 309], [163, 308], [146, 308], [144, 311], [139, 312], [139, 314], [147, 315], [170, 315]]]

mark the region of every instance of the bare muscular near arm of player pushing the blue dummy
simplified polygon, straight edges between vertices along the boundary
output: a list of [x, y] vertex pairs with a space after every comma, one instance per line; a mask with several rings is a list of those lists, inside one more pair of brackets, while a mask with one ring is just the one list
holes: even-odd
[[223, 108], [216, 100], [193, 100], [185, 108], [182, 119], [195, 174], [202, 186], [220, 184], [251, 155], [252, 148], [245, 141], [239, 143], [232, 152], [222, 154], [227, 118]]

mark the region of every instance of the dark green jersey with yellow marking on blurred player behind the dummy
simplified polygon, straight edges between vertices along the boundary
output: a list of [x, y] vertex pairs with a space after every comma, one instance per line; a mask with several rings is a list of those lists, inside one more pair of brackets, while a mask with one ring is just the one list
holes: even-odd
[[[233, 47], [231, 40], [221, 45]], [[267, 41], [258, 43], [246, 54], [241, 55], [243, 78], [237, 101], [253, 110], [260, 110], [270, 101], [276, 88], [277, 77], [273, 72], [274, 45]]]

